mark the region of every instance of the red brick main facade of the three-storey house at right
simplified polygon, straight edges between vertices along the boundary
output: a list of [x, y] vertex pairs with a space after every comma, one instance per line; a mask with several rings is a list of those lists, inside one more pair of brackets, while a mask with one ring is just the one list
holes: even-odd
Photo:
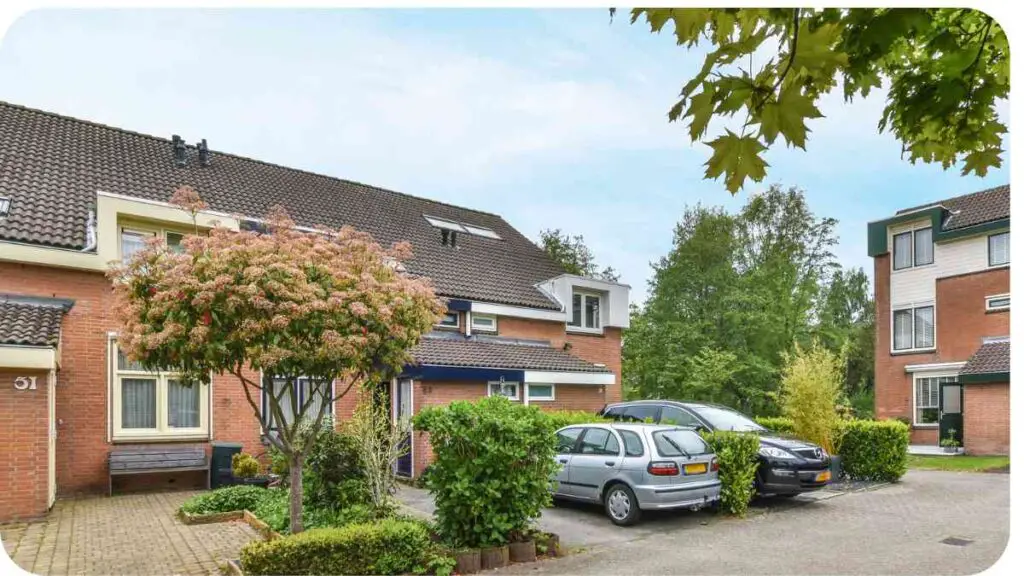
[[[878, 322], [874, 342], [874, 415], [878, 418], [913, 416], [913, 376], [906, 373], [911, 364], [966, 362], [981, 345], [983, 338], [1010, 334], [1010, 312], [985, 312], [985, 296], [1010, 291], [1010, 270], [982, 271], [936, 281], [936, 349], [927, 354], [892, 354], [890, 255], [874, 258], [874, 301]], [[967, 386], [969, 387], [969, 386]], [[1009, 418], [1009, 404], [1004, 406]], [[969, 418], [965, 405], [965, 418]], [[965, 435], [981, 434], [976, 422], [973, 430], [965, 424]], [[935, 427], [912, 427], [913, 444], [938, 444]], [[965, 444], [970, 440], [965, 437]]]

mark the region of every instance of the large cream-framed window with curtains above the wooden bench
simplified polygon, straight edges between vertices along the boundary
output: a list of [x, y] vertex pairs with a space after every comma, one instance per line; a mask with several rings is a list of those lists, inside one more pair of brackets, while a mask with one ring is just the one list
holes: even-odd
[[207, 436], [209, 384], [185, 385], [172, 372], [148, 372], [114, 346], [115, 440]]

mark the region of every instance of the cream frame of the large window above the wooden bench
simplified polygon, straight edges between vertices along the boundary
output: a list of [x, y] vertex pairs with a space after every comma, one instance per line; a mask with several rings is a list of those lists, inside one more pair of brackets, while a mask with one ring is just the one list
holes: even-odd
[[[111, 440], [114, 442], [138, 442], [162, 440], [202, 440], [210, 437], [211, 384], [203, 382], [199, 386], [199, 427], [175, 428], [168, 423], [168, 380], [178, 378], [175, 372], [146, 372], [143, 370], [122, 370], [118, 363], [117, 341], [111, 339]], [[153, 378], [156, 380], [157, 427], [124, 428], [121, 425], [121, 381], [124, 378]]]

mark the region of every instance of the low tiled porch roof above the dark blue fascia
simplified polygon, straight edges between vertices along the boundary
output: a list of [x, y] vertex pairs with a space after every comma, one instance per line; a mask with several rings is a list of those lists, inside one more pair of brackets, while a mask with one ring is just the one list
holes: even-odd
[[581, 360], [547, 342], [503, 341], [476, 336], [427, 335], [413, 348], [418, 364], [514, 370], [607, 373], [604, 366]]

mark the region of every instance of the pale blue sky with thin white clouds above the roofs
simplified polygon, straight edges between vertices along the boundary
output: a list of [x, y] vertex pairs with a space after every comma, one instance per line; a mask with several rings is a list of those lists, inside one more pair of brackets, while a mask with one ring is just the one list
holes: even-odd
[[840, 262], [870, 275], [866, 222], [1009, 182], [1009, 161], [978, 178], [901, 160], [877, 130], [885, 94], [837, 89], [808, 150], [779, 138], [767, 178], [731, 196], [666, 116], [701, 49], [626, 15], [37, 10], [0, 43], [0, 99], [498, 213], [534, 240], [583, 235], [637, 303], [687, 206], [796, 186], [839, 220]]

